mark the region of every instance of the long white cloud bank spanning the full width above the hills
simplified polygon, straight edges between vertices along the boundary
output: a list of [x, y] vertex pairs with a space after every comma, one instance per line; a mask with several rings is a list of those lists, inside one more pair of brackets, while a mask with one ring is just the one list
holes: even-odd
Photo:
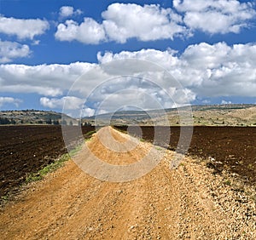
[[[91, 114], [99, 107], [104, 112], [127, 103], [150, 109], [158, 102], [167, 108], [196, 99], [255, 97], [256, 93], [255, 43], [199, 43], [182, 54], [142, 49], [97, 56], [102, 65], [0, 65], [0, 91], [38, 93], [43, 106], [61, 108], [63, 96], [75, 83], [70, 96], [77, 99], [69, 99], [74, 106], [68, 103], [68, 110], [82, 106]], [[85, 96], [89, 98], [84, 106]]]

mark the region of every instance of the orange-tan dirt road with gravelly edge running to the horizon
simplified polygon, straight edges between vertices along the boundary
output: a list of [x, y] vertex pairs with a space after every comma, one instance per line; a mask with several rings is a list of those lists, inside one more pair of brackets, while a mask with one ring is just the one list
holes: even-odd
[[[113, 138], [105, 135], [109, 131]], [[99, 137], [107, 138], [109, 146], [129, 138], [106, 128], [87, 142], [90, 151], [107, 163], [136, 163], [151, 148], [132, 140], [128, 146], [138, 146], [131, 151], [110, 151]], [[156, 147], [157, 151], [165, 150]], [[87, 153], [83, 150], [76, 157]], [[97, 180], [69, 161], [32, 183], [1, 211], [1, 238], [256, 239], [252, 188], [229, 174], [212, 174], [212, 169], [190, 158], [170, 169], [172, 156], [167, 151], [151, 172], [122, 183]]]

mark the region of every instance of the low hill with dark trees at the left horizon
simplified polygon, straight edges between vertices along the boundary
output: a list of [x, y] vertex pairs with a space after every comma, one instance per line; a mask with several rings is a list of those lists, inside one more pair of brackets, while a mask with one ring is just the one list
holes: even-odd
[[[66, 121], [72, 117], [65, 115]], [[0, 124], [61, 124], [61, 113], [55, 111], [0, 111]]]

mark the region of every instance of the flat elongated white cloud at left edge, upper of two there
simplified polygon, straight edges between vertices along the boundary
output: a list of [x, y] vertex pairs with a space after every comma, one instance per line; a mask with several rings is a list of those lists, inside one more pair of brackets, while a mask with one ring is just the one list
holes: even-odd
[[33, 39], [42, 35], [49, 29], [47, 20], [39, 19], [15, 19], [0, 15], [0, 32], [7, 35], [15, 35], [19, 39]]

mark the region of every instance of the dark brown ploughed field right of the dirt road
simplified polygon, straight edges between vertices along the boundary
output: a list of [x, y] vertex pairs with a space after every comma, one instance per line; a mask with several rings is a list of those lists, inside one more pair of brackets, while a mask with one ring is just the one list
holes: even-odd
[[[126, 130], [127, 127], [117, 127]], [[154, 140], [154, 127], [141, 127], [143, 139]], [[166, 127], [157, 127], [159, 134], [166, 134]], [[184, 127], [186, 128], [186, 127]], [[131, 134], [137, 128], [129, 127]], [[168, 146], [177, 149], [180, 128], [171, 128]], [[161, 145], [161, 143], [159, 143]], [[253, 127], [194, 127], [189, 155], [202, 159], [214, 158], [208, 166], [220, 172], [229, 169], [251, 183], [256, 183], [256, 128]]]

